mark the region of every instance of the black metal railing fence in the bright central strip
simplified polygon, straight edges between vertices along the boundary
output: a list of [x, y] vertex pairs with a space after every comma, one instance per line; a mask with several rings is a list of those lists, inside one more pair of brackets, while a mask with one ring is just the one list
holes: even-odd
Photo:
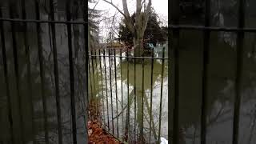
[[165, 47], [142, 57], [125, 47], [90, 52], [89, 101], [95, 109], [90, 117], [123, 142], [161, 142], [160, 136], [167, 136], [167, 110], [162, 109], [168, 99]]

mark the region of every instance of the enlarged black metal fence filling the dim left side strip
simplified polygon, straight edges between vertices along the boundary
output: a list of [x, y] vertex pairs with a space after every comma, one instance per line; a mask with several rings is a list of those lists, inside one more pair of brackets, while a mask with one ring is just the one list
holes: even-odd
[[87, 142], [88, 4], [45, 2], [1, 2], [0, 143]]

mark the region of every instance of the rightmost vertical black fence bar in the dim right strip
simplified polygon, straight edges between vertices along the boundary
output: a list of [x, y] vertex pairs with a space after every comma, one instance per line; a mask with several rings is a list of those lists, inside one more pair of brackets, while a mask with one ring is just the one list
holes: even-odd
[[[245, 26], [245, 2], [239, 0], [238, 7], [238, 28], [242, 29]], [[237, 65], [235, 72], [235, 98], [234, 98], [234, 123], [233, 123], [233, 144], [238, 144], [239, 139], [239, 117], [241, 104], [241, 90], [242, 90], [242, 68], [243, 68], [243, 40], [244, 32], [237, 33]]]

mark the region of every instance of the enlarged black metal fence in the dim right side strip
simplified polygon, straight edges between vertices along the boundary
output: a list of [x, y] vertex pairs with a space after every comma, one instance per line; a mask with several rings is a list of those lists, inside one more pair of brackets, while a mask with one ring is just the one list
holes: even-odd
[[[203, 33], [203, 40], [202, 45], [202, 87], [201, 87], [201, 95], [202, 95], [202, 104], [201, 106], [201, 131], [200, 131], [200, 143], [205, 144], [209, 141], [207, 140], [207, 123], [209, 123], [209, 116], [207, 115], [207, 110], [209, 108], [209, 70], [210, 70], [210, 35], [214, 32], [234, 32], [237, 34], [236, 38], [236, 68], [235, 68], [235, 78], [234, 78], [234, 118], [233, 118], [233, 134], [232, 134], [232, 143], [237, 144], [242, 142], [241, 139], [241, 130], [239, 130], [239, 127], [242, 126], [241, 124], [241, 99], [242, 99], [242, 71], [243, 71], [243, 65], [244, 65], [244, 59], [245, 59], [245, 47], [244, 47], [244, 37], [246, 32], [255, 32], [255, 28], [245, 27], [245, 13], [246, 13], [246, 1], [238, 0], [237, 2], [237, 10], [238, 18], [237, 18], [237, 27], [218, 27], [218, 26], [211, 26], [211, 18], [213, 14], [211, 13], [212, 6], [211, 4], [217, 3], [212, 2], [210, 0], [203, 1], [203, 7], [204, 7], [204, 24], [202, 26], [194, 26], [194, 25], [180, 25], [179, 20], [181, 19], [181, 11], [180, 11], [180, 2], [179, 0], [173, 0], [170, 1], [169, 10], [170, 10], [170, 47], [171, 51], [169, 53], [170, 55], [170, 63], [169, 63], [169, 71], [173, 72], [170, 73], [169, 82], [171, 85], [169, 85], [169, 90], [171, 90], [171, 93], [169, 93], [169, 98], [173, 101], [169, 103], [169, 118], [174, 119], [173, 123], [169, 124], [169, 139], [172, 143], [180, 143], [180, 92], [183, 90], [182, 87], [180, 87], [180, 49], [181, 49], [181, 31], [182, 30], [195, 30], [198, 32]], [[247, 4], [248, 7], [248, 4]], [[239, 136], [240, 133], [240, 136]], [[240, 141], [238, 138], [241, 138]]]

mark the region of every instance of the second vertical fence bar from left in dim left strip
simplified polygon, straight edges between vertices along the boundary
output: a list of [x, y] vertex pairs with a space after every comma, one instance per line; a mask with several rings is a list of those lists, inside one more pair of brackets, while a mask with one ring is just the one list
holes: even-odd
[[[14, 2], [10, 1], [9, 2], [9, 13], [10, 13], [10, 18], [14, 18]], [[16, 90], [17, 90], [17, 97], [18, 97], [18, 112], [19, 112], [19, 122], [20, 122], [20, 134], [22, 138], [22, 143], [25, 143], [24, 139], [24, 120], [23, 120], [23, 115], [22, 115], [22, 98], [20, 94], [20, 76], [19, 76], [19, 66], [18, 66], [18, 46], [17, 46], [17, 41], [16, 41], [16, 26], [14, 25], [14, 22], [10, 22], [11, 25], [11, 35], [12, 35], [12, 42], [13, 42], [13, 54], [14, 54], [14, 71], [15, 71], [15, 78], [16, 78]]]

